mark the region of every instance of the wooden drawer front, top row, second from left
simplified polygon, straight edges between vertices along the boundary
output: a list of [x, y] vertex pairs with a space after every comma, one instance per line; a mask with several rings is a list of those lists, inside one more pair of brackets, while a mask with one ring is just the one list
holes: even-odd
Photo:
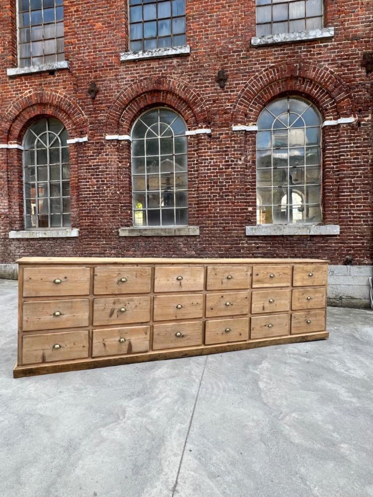
[[151, 291], [150, 267], [96, 267], [94, 269], [94, 293], [126, 294]]

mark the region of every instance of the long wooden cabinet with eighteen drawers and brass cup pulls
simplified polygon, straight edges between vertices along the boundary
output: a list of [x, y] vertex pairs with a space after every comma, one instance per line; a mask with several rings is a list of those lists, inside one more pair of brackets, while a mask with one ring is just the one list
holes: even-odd
[[15, 377], [328, 337], [322, 260], [18, 262]]

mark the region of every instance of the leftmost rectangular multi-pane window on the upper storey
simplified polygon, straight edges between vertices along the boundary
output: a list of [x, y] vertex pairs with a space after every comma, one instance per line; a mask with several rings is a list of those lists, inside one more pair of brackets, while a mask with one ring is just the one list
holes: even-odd
[[63, 0], [17, 0], [18, 65], [65, 60]]

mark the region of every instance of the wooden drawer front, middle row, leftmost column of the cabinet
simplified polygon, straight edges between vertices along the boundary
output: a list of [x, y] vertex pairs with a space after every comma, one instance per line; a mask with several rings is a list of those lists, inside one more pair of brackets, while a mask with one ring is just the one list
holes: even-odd
[[24, 302], [23, 331], [88, 326], [89, 312], [88, 299]]

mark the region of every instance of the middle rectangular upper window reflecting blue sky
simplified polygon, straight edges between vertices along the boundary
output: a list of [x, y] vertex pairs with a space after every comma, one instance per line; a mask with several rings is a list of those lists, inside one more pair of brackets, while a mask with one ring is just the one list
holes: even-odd
[[129, 39], [131, 52], [185, 46], [185, 0], [130, 0]]

